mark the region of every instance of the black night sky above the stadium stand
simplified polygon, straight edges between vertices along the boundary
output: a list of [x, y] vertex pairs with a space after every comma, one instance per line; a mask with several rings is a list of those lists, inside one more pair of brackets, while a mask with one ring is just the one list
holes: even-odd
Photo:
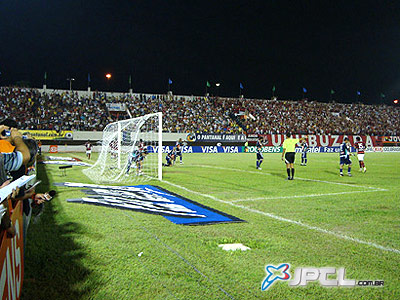
[[[400, 97], [400, 1], [0, 2], [0, 84], [367, 103]], [[104, 74], [113, 78], [107, 84]]]

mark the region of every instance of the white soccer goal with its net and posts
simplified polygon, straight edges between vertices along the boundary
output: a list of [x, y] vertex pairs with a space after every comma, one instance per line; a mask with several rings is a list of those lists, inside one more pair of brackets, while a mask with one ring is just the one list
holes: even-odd
[[108, 124], [97, 162], [83, 173], [96, 183], [162, 180], [162, 113]]

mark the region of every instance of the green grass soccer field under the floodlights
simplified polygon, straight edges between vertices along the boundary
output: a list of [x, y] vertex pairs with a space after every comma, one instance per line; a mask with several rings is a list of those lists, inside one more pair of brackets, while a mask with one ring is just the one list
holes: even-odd
[[[61, 155], [87, 162], [84, 153]], [[204, 226], [68, 203], [80, 189], [52, 184], [90, 183], [83, 167], [63, 177], [39, 165], [40, 190], [58, 195], [31, 222], [22, 299], [400, 299], [400, 154], [367, 153], [365, 174], [352, 157], [353, 177], [339, 177], [338, 154], [309, 154], [306, 167], [297, 155], [293, 181], [280, 156], [265, 154], [256, 170], [255, 154], [184, 154], [163, 182], [149, 182], [246, 221]], [[223, 251], [224, 243], [251, 250]], [[343, 267], [346, 279], [384, 286], [277, 280], [261, 291], [265, 267], [282, 263], [291, 276]]]

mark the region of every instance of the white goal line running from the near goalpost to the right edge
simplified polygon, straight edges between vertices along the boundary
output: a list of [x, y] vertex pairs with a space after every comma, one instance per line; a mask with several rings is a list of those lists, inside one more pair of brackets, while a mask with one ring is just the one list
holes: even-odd
[[319, 227], [316, 227], [316, 226], [311, 226], [311, 225], [305, 224], [305, 223], [300, 222], [300, 221], [294, 221], [294, 220], [291, 220], [291, 219], [283, 218], [283, 217], [280, 217], [280, 216], [277, 216], [277, 215], [274, 215], [274, 214], [271, 214], [271, 213], [267, 213], [267, 212], [264, 212], [264, 211], [256, 210], [256, 209], [253, 209], [253, 208], [241, 205], [241, 204], [236, 204], [236, 203], [232, 203], [230, 201], [221, 200], [221, 199], [218, 199], [217, 197], [214, 197], [212, 195], [207, 195], [207, 194], [203, 194], [203, 193], [200, 193], [200, 192], [196, 192], [196, 191], [190, 190], [190, 189], [188, 189], [188, 188], [186, 188], [184, 186], [180, 186], [178, 184], [175, 184], [175, 183], [172, 183], [172, 182], [169, 182], [169, 181], [163, 180], [163, 182], [167, 183], [167, 184], [169, 184], [171, 186], [174, 186], [176, 188], [179, 188], [181, 190], [187, 191], [189, 193], [196, 194], [196, 195], [199, 195], [199, 196], [202, 196], [202, 197], [206, 197], [206, 198], [209, 198], [209, 199], [221, 202], [221, 203], [225, 203], [225, 204], [237, 207], [237, 208], [241, 208], [241, 209], [247, 210], [249, 212], [260, 214], [260, 215], [263, 215], [263, 216], [266, 216], [266, 217], [269, 217], [269, 218], [272, 218], [272, 219], [275, 219], [275, 220], [278, 220], [278, 221], [287, 222], [287, 223], [291, 223], [291, 224], [296, 224], [296, 225], [299, 225], [301, 227], [305, 227], [305, 228], [310, 229], [310, 230], [314, 230], [314, 231], [322, 232], [322, 233], [325, 233], [325, 234], [329, 234], [329, 235], [335, 236], [335, 237], [343, 239], [343, 240], [348, 240], [348, 241], [352, 241], [352, 242], [355, 242], [355, 243], [358, 243], [358, 244], [363, 244], [363, 245], [367, 245], [367, 246], [370, 246], [370, 247], [374, 247], [374, 248], [377, 248], [377, 249], [380, 249], [380, 250], [383, 250], [383, 251], [388, 251], [388, 252], [393, 252], [393, 253], [396, 253], [396, 254], [400, 254], [400, 250], [399, 249], [381, 246], [381, 245], [376, 244], [376, 243], [360, 240], [358, 238], [353, 238], [353, 237], [347, 236], [345, 234], [341, 234], [341, 233], [337, 233], [337, 232], [334, 232], [334, 231], [326, 230], [326, 229], [319, 228]]

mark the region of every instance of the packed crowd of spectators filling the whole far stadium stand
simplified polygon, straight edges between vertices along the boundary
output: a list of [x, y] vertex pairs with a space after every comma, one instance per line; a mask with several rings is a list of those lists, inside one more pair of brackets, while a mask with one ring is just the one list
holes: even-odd
[[[127, 110], [109, 111], [110, 103]], [[400, 108], [387, 105], [0, 88], [0, 118], [12, 112], [21, 129], [100, 131], [158, 111], [166, 132], [400, 135]]]

